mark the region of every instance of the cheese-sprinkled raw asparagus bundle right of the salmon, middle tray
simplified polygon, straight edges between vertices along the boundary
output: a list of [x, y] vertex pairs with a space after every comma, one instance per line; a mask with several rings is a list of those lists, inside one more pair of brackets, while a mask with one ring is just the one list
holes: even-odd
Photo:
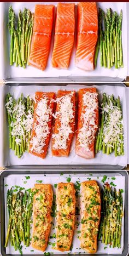
[[109, 155], [124, 155], [124, 128], [120, 97], [103, 93], [101, 102], [101, 122], [96, 138], [96, 153], [103, 151]]

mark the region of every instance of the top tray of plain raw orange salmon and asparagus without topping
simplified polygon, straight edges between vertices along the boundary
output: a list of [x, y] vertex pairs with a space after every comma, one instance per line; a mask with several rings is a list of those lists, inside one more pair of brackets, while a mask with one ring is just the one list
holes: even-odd
[[12, 2], [0, 12], [1, 78], [126, 79], [125, 2]]

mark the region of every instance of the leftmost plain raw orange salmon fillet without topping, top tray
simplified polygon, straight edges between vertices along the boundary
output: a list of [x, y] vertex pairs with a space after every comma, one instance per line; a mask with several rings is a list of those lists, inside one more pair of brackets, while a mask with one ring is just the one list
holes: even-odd
[[45, 70], [51, 43], [54, 5], [36, 4], [29, 64]]

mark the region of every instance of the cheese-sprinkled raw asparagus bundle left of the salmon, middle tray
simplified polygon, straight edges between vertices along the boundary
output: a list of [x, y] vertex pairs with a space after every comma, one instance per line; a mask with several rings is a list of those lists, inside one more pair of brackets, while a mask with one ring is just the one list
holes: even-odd
[[25, 151], [29, 151], [34, 101], [30, 96], [24, 98], [22, 94], [17, 101], [12, 95], [7, 94], [5, 101], [9, 124], [9, 148], [20, 158]]

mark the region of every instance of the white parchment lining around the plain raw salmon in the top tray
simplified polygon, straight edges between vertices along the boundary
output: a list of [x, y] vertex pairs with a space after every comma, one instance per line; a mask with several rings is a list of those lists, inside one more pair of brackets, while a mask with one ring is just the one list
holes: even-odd
[[[40, 2], [36, 2], [40, 3]], [[41, 77], [83, 77], [86, 81], [86, 79], [89, 79], [91, 81], [94, 81], [93, 79], [96, 78], [96, 81], [100, 80], [100, 77], [104, 81], [107, 81], [107, 79], [110, 79], [110, 81], [123, 81], [126, 79], [127, 76], [127, 10], [126, 10], [126, 2], [97, 2], [97, 7], [101, 7], [103, 10], [106, 10], [107, 8], [112, 8], [113, 10], [116, 10], [118, 13], [120, 13], [120, 9], [123, 11], [123, 21], [122, 21], [122, 46], [123, 46], [123, 55], [124, 55], [124, 68], [115, 69], [114, 67], [112, 69], [104, 69], [104, 67], [100, 66], [100, 54], [98, 56], [98, 62], [97, 62], [97, 68], [94, 71], [83, 71], [75, 67], [74, 65], [74, 59], [75, 59], [75, 43], [73, 47], [73, 53], [71, 62], [69, 65], [68, 70], [58, 70], [51, 66], [51, 55], [52, 55], [52, 46], [54, 42], [54, 35], [52, 35], [51, 40], [51, 50], [49, 54], [48, 59], [48, 65], [45, 69], [45, 71], [41, 71], [38, 69], [35, 69], [34, 67], [27, 67], [26, 69], [23, 69], [21, 67], [15, 67], [9, 65], [9, 52], [10, 52], [10, 35], [8, 31], [8, 8], [10, 4], [15, 10], [15, 13], [18, 12], [19, 9], [23, 9], [24, 7], [30, 8], [31, 11], [34, 11], [34, 5], [36, 4], [34, 2], [10, 2], [10, 3], [0, 3], [0, 16], [1, 16], [1, 24], [0, 24], [0, 49], [1, 49], [1, 58], [0, 58], [0, 78], [2, 79], [8, 79], [8, 78], [19, 78], [20, 81], [22, 81], [22, 78], [33, 78], [33, 80], [37, 81]], [[45, 2], [44, 2], [45, 3]], [[40, 3], [41, 4], [41, 3]], [[48, 3], [46, 3], [48, 4]], [[52, 3], [54, 5], [57, 5], [57, 2]], [[77, 3], [76, 3], [77, 4]], [[53, 32], [54, 34], [54, 32]]]

